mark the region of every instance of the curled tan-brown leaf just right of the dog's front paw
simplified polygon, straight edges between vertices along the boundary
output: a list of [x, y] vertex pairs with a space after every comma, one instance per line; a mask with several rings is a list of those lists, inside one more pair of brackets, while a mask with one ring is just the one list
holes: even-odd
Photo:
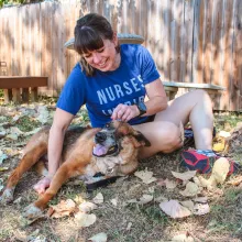
[[58, 205], [50, 206], [47, 215], [52, 218], [62, 218], [74, 212], [76, 204], [72, 199], [62, 200]]

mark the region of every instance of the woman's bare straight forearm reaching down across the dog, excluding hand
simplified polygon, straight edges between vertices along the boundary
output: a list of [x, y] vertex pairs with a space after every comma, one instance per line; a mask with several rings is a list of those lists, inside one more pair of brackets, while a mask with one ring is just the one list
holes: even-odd
[[62, 160], [63, 142], [67, 128], [74, 116], [56, 109], [48, 138], [48, 178], [55, 175]]

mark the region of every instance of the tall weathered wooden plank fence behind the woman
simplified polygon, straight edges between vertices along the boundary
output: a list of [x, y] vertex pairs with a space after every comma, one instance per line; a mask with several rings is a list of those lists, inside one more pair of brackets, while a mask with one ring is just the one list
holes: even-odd
[[216, 107], [242, 110], [241, 0], [63, 0], [0, 10], [0, 61], [8, 75], [48, 76], [56, 96], [78, 56], [64, 48], [76, 20], [105, 14], [118, 32], [145, 37], [165, 81], [221, 85]]

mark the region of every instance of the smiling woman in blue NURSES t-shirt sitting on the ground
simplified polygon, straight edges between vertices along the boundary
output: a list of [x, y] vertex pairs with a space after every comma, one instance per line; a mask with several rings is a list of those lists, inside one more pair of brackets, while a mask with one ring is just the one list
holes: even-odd
[[[152, 143], [141, 158], [169, 153], [183, 145], [180, 122], [193, 125], [196, 147], [211, 150], [212, 105], [197, 90], [167, 103], [160, 74], [142, 45], [119, 45], [117, 33], [101, 15], [90, 13], [77, 21], [75, 50], [80, 55], [57, 102], [48, 141], [48, 177], [35, 185], [44, 193], [56, 173], [63, 140], [77, 111], [86, 105], [92, 127], [112, 120], [131, 123]], [[148, 100], [144, 100], [145, 96]], [[202, 152], [201, 151], [201, 152]]]

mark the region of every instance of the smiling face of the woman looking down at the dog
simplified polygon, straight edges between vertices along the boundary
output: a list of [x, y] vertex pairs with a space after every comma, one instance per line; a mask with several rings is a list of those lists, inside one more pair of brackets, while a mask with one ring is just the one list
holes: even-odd
[[120, 65], [120, 54], [117, 53], [118, 37], [113, 40], [103, 40], [103, 47], [82, 54], [87, 63], [101, 72], [114, 70]]

